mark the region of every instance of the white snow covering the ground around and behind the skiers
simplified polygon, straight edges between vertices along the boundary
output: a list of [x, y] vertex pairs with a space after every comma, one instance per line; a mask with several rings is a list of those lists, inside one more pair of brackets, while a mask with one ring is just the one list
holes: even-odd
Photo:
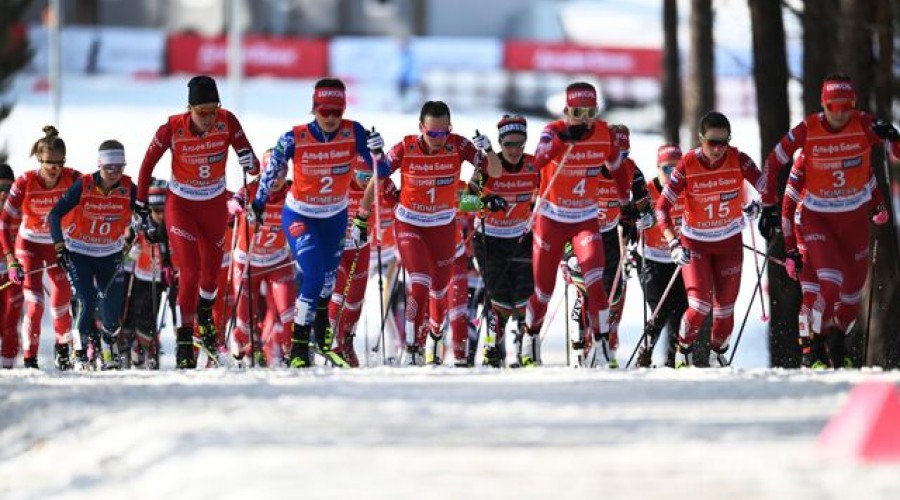
[[[69, 77], [59, 127], [69, 166], [88, 171], [97, 145], [116, 138], [136, 175], [156, 127], [183, 109], [186, 80]], [[50, 121], [48, 98], [32, 85], [18, 82], [17, 106], [0, 126], [17, 172], [33, 168], [28, 150]], [[247, 82], [238, 116], [257, 151], [308, 118], [310, 89]], [[388, 142], [414, 133], [414, 114], [389, 111], [393, 92], [351, 88], [348, 115]], [[454, 130], [494, 130], [501, 113], [458, 111]], [[533, 149], [542, 123], [530, 126]], [[755, 124], [734, 120], [733, 136], [756, 157]], [[650, 177], [660, 142], [632, 138], [632, 156]], [[167, 175], [165, 158], [157, 172]], [[735, 333], [754, 272], [745, 254]], [[371, 287], [374, 304], [375, 280]], [[629, 288], [623, 365], [643, 323], [634, 277]], [[557, 286], [551, 314], [562, 293]], [[167, 327], [160, 372], [91, 374], [51, 367], [45, 318], [42, 370], [0, 373], [0, 497], [895, 498], [900, 466], [827, 461], [815, 438], [853, 385], [900, 383], [900, 373], [767, 368], [758, 300], [735, 368], [570, 369], [565, 316], [548, 326], [539, 369], [180, 373]], [[363, 325], [372, 339], [376, 325]]]

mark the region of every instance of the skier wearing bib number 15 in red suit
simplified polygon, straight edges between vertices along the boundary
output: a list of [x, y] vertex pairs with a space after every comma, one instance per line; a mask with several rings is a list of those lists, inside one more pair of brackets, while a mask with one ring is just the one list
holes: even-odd
[[[700, 119], [700, 147], [678, 161], [656, 203], [656, 219], [672, 260], [682, 267], [688, 310], [678, 332], [675, 367], [693, 364], [693, 344], [712, 313], [709, 365], [727, 366], [725, 352], [734, 327], [734, 303], [744, 260], [744, 215], [759, 216], [761, 206], [742, 206], [744, 180], [758, 191], [765, 182], [749, 156], [730, 146], [731, 123], [711, 111]], [[672, 210], [684, 196], [681, 236], [673, 230]]]

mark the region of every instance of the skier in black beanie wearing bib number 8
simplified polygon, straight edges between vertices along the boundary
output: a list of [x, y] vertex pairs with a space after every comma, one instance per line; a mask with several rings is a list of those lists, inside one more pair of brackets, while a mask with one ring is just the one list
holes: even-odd
[[172, 152], [166, 223], [172, 251], [184, 263], [175, 320], [175, 361], [181, 369], [197, 366], [195, 324], [207, 352], [217, 353], [213, 305], [228, 218], [225, 164], [229, 146], [237, 153], [244, 172], [258, 171], [259, 162], [244, 129], [237, 117], [222, 108], [215, 80], [195, 76], [188, 82], [188, 111], [170, 116], [159, 127], [141, 163], [138, 212], [155, 240], [159, 229], [148, 220], [147, 189], [163, 153]]

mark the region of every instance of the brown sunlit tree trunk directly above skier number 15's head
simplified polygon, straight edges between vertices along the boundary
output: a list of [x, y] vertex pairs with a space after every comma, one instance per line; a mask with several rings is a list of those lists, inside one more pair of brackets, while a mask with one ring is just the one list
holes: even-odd
[[691, 47], [688, 64], [689, 147], [698, 143], [700, 118], [716, 106], [712, 0], [691, 0]]

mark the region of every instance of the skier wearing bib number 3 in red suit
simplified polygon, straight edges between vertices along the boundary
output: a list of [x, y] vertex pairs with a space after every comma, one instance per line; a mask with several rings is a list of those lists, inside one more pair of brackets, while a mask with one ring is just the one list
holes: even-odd
[[[821, 113], [807, 116], [785, 135], [766, 158], [768, 196], [775, 198], [775, 179], [802, 149], [804, 187], [801, 219], [808, 263], [816, 270], [822, 298], [823, 334], [832, 337], [831, 357], [844, 363], [844, 337], [859, 312], [868, 274], [869, 219], [875, 198], [875, 218], [887, 221], [870, 162], [873, 145], [888, 141], [900, 154], [900, 133], [886, 120], [856, 111], [853, 82], [832, 75], [822, 83]], [[797, 192], [791, 193], [797, 197]], [[774, 200], [770, 200], [774, 201]], [[760, 231], [770, 235], [782, 224], [777, 207], [766, 210]], [[785, 234], [785, 240], [789, 235]], [[793, 243], [793, 242], [792, 242]], [[786, 259], [798, 268], [803, 259], [796, 246], [787, 246]], [[837, 307], [835, 304], [839, 304]]]

